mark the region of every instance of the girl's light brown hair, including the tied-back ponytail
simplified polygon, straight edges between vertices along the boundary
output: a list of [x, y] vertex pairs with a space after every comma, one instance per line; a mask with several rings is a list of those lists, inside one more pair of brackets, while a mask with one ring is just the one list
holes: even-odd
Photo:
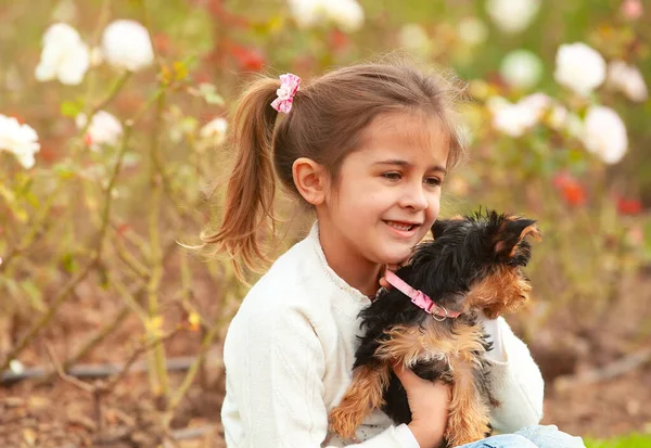
[[405, 57], [339, 68], [303, 81], [291, 112], [278, 120], [270, 106], [278, 78], [263, 77], [244, 91], [233, 119], [234, 167], [228, 182], [224, 221], [216, 233], [202, 233], [204, 244], [226, 251], [235, 264], [253, 269], [266, 261], [260, 229], [273, 222], [276, 177], [297, 199], [292, 165], [308, 157], [333, 179], [365, 128], [380, 114], [422, 112], [439, 118], [450, 136], [448, 166], [464, 153], [455, 104], [460, 89], [451, 77]]

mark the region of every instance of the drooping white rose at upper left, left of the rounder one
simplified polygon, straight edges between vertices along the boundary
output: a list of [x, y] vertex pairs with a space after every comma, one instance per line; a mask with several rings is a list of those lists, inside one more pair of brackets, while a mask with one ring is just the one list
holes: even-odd
[[61, 84], [76, 86], [84, 80], [89, 64], [88, 46], [79, 33], [58, 23], [43, 35], [43, 50], [35, 76], [39, 81], [56, 78]]

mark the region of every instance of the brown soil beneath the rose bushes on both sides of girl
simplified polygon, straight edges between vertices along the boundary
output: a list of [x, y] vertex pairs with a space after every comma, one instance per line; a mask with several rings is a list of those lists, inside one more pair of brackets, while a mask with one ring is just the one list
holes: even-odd
[[[618, 300], [612, 307], [600, 331], [592, 329], [591, 333], [582, 334], [576, 331], [572, 319], [560, 317], [547, 322], [540, 337], [529, 343], [546, 376], [544, 423], [590, 437], [651, 433], [651, 362], [641, 363], [607, 381], [589, 384], [579, 381], [571, 387], [554, 387], [563, 375], [603, 370], [617, 359], [648, 347], [648, 342], [640, 340], [640, 334], [649, 334], [642, 325], [649, 323], [651, 316], [651, 277], [633, 281], [626, 290], [630, 293], [625, 291], [624, 294], [630, 299]], [[51, 366], [46, 345], [55, 348], [64, 358], [71, 353], [69, 345], [74, 345], [76, 337], [88, 334], [94, 320], [99, 324], [101, 316], [112, 311], [95, 309], [98, 316], [93, 318], [90, 312], [90, 317], [79, 321], [79, 306], [69, 304], [61, 310], [61, 320], [66, 322], [68, 319], [69, 325], [59, 325], [44, 332], [24, 354], [25, 363]], [[125, 341], [135, 331], [141, 331], [139, 325], [138, 321], [127, 319], [101, 349], [85, 358], [85, 362], [124, 361], [128, 353]], [[519, 332], [521, 329], [514, 325], [514, 330]], [[199, 334], [181, 332], [167, 343], [168, 354], [170, 357], [194, 354], [199, 350], [200, 341]], [[558, 341], [563, 344], [550, 343]], [[179, 447], [224, 447], [219, 424], [224, 395], [219, 346], [216, 344], [209, 353], [206, 368], [179, 406], [171, 423], [173, 430], [167, 433], [158, 424], [161, 402], [152, 396], [145, 373], [128, 374], [99, 400], [92, 392], [55, 376], [49, 383], [23, 381], [0, 387], [0, 448], [173, 446], [162, 443], [165, 435], [171, 433], [177, 438], [188, 437], [178, 441]], [[182, 374], [173, 373], [170, 379], [173, 385], [178, 385]], [[90, 384], [98, 385], [97, 382]], [[102, 419], [97, 418], [98, 402]]]

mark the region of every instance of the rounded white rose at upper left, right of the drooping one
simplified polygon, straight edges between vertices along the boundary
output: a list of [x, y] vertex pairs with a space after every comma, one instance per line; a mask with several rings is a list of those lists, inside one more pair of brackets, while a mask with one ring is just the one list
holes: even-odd
[[129, 72], [138, 72], [154, 62], [149, 33], [136, 21], [110, 23], [102, 36], [102, 51], [108, 64]]

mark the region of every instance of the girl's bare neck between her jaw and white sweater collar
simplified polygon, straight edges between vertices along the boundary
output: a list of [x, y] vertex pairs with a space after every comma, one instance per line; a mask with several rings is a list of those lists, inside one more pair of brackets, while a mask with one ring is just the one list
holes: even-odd
[[347, 284], [369, 298], [380, 289], [379, 279], [382, 265], [354, 258], [346, 253], [345, 244], [332, 238], [329, 232], [320, 232], [319, 240], [328, 266]]

